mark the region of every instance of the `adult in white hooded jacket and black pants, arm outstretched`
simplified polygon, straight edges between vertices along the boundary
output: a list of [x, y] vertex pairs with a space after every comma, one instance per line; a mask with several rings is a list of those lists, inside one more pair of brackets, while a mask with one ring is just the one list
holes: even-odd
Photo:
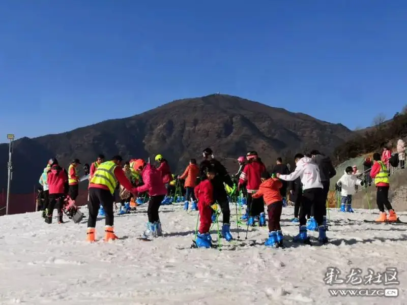
[[314, 205], [314, 218], [318, 224], [319, 236], [321, 242], [328, 241], [326, 236], [326, 227], [324, 225], [324, 194], [321, 177], [319, 176], [319, 168], [315, 162], [309, 157], [304, 157], [302, 154], [295, 156], [296, 169], [289, 175], [276, 174], [277, 178], [285, 181], [293, 181], [301, 177], [303, 186], [303, 196], [300, 208], [300, 232], [294, 237], [294, 241], [308, 242], [306, 215], [309, 214], [312, 205]]

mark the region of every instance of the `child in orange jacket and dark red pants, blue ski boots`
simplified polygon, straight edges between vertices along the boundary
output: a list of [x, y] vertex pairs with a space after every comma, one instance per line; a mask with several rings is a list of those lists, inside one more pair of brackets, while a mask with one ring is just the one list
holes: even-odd
[[258, 192], [253, 194], [253, 199], [263, 197], [267, 205], [269, 216], [269, 239], [265, 242], [269, 247], [281, 247], [283, 245], [283, 234], [280, 227], [283, 199], [280, 194], [282, 182], [277, 178], [271, 178], [267, 171], [261, 174], [261, 184]]

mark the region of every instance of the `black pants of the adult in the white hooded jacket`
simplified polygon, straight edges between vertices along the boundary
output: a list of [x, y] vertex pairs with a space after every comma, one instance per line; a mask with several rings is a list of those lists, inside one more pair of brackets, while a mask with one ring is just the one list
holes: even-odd
[[300, 207], [300, 226], [307, 224], [306, 216], [310, 214], [311, 208], [313, 208], [316, 223], [321, 226], [324, 220], [324, 209], [326, 208], [323, 189], [304, 190]]

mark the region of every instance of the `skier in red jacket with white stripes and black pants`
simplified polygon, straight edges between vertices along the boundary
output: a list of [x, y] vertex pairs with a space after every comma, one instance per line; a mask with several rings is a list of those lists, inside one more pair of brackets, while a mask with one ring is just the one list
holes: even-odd
[[249, 218], [247, 220], [248, 226], [254, 226], [255, 220], [258, 220], [259, 226], [266, 225], [266, 215], [264, 212], [263, 198], [256, 197], [253, 199], [252, 195], [258, 191], [261, 183], [261, 173], [266, 171], [266, 166], [263, 162], [258, 161], [256, 151], [249, 151], [247, 153], [247, 164], [242, 171], [239, 178], [239, 189], [245, 185], [247, 190], [247, 209], [246, 214]]

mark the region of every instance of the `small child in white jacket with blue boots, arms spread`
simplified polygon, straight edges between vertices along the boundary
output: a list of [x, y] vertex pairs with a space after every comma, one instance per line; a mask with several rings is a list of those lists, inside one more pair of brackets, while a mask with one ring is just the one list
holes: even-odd
[[[352, 195], [355, 194], [355, 186], [363, 186], [364, 182], [353, 174], [353, 168], [348, 166], [342, 177], [336, 182], [338, 187], [341, 188], [341, 212], [353, 213], [352, 209]], [[346, 209], [345, 209], [346, 208]]]

